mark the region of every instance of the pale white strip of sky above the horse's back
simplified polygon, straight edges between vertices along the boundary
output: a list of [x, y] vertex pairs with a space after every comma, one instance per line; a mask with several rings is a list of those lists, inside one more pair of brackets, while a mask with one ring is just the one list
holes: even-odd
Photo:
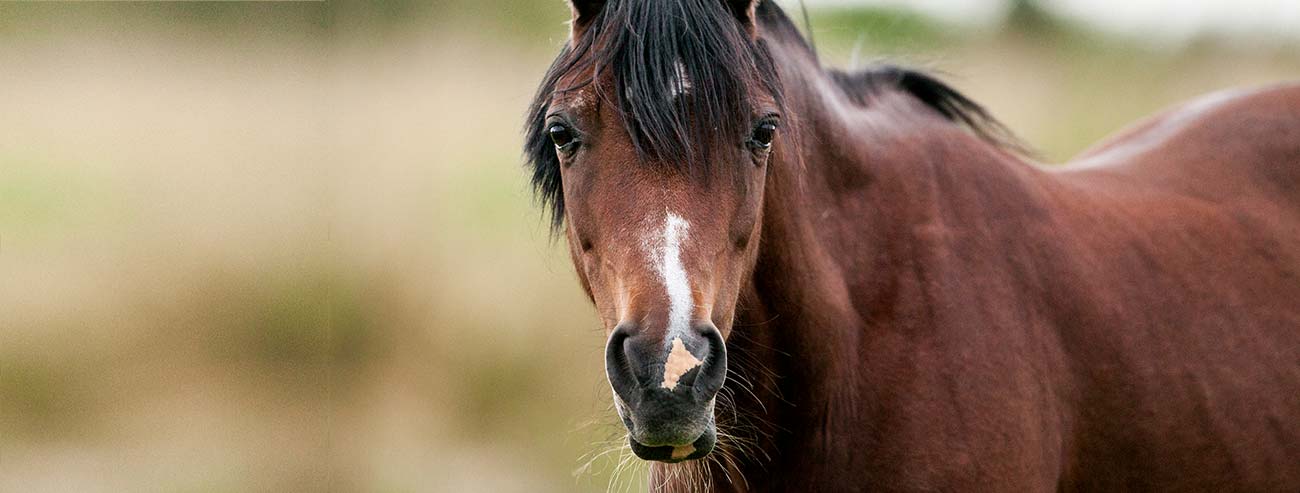
[[[887, 5], [945, 22], [996, 25], [1010, 0], [805, 0], [809, 7]], [[786, 5], [797, 0], [784, 0]], [[1093, 29], [1179, 44], [1210, 34], [1257, 43], [1300, 43], [1300, 0], [1041, 0], [1046, 10]]]

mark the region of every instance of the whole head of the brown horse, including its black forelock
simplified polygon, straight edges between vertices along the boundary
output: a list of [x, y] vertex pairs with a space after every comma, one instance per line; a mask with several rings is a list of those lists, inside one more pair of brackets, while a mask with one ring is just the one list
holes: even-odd
[[779, 124], [757, 4], [572, 0], [528, 117], [533, 183], [604, 323], [615, 407], [644, 459], [716, 441]]

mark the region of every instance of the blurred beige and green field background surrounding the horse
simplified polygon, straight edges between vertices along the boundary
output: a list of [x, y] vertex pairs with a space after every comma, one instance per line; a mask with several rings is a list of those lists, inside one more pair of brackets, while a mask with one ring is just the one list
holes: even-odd
[[[807, 8], [1053, 163], [1300, 78], [1292, 0]], [[520, 167], [567, 16], [0, 4], [0, 492], [644, 490]]]

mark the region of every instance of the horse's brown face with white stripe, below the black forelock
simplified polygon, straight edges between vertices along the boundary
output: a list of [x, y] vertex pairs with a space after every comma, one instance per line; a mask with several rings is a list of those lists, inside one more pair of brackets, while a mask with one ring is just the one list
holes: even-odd
[[647, 161], [598, 99], [608, 91], [597, 82], [550, 105], [564, 235], [606, 325], [606, 373], [633, 451], [696, 459], [716, 438], [724, 341], [757, 258], [779, 121], [770, 107], [754, 108], [748, 135], [706, 143], [707, 165]]

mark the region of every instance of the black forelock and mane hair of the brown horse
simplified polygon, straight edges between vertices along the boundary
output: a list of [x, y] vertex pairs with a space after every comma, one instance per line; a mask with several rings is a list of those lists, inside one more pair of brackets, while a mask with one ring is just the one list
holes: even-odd
[[[755, 17], [766, 31], [796, 40], [816, 59], [775, 3], [762, 1]], [[827, 73], [858, 104], [866, 105], [880, 90], [902, 90], [985, 140], [1019, 148], [984, 108], [924, 73], [896, 66]], [[559, 87], [571, 74], [581, 77]], [[750, 130], [755, 88], [768, 91], [781, 105], [781, 83], [766, 40], [744, 33], [723, 1], [608, 0], [551, 64], [525, 121], [524, 152], [533, 189], [552, 228], [563, 224], [564, 196], [559, 157], [546, 133], [551, 96], [593, 85], [592, 74], [612, 78], [614, 94], [599, 94], [599, 99], [618, 109], [641, 159], [688, 170], [711, 161], [706, 143], [741, 139]], [[679, 98], [673, 90], [681, 75], [692, 86]]]

